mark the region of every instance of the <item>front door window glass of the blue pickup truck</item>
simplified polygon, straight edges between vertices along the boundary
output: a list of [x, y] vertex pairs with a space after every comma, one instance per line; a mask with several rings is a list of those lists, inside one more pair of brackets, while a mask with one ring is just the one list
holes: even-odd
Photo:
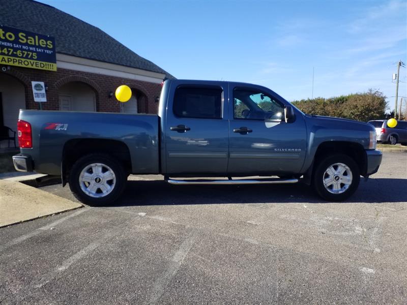
[[235, 88], [233, 101], [235, 118], [258, 120], [282, 120], [284, 118], [284, 106], [263, 92]]

